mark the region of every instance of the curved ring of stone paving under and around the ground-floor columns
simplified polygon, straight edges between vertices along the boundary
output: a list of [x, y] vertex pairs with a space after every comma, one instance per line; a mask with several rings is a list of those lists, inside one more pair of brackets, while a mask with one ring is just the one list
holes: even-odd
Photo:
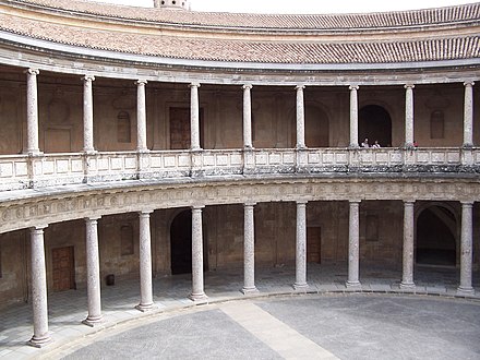
[[[416, 269], [416, 284], [413, 289], [398, 287], [401, 272], [399, 269], [383, 269], [381, 267], [362, 267], [360, 289], [349, 289], [345, 286], [346, 264], [340, 265], [310, 265], [308, 269], [309, 288], [305, 291], [296, 291], [295, 268], [280, 267], [271, 269], [256, 269], [256, 286], [259, 292], [244, 296], [240, 292], [242, 286], [242, 272], [223, 271], [205, 274], [205, 292], [208, 302], [215, 303], [231, 299], [262, 298], [268, 296], [299, 295], [303, 292], [397, 292], [435, 295], [457, 297], [456, 283], [452, 279], [459, 278], [456, 269]], [[362, 277], [363, 274], [374, 274], [375, 277]], [[480, 300], [480, 274], [473, 274], [472, 295], [461, 295], [461, 298]], [[17, 303], [1, 312], [0, 324], [0, 357], [3, 359], [28, 359], [33, 356], [46, 356], [49, 351], [74, 340], [79, 337], [89, 336], [112, 328], [118, 324], [135, 319], [146, 319], [159, 313], [195, 307], [188, 295], [191, 291], [191, 276], [158, 277], [154, 279], [154, 301], [157, 308], [151, 312], [142, 313], [134, 309], [140, 300], [137, 280], [118, 281], [115, 286], [103, 287], [101, 303], [104, 323], [100, 326], [88, 327], [81, 322], [87, 314], [86, 290], [69, 290], [59, 293], [49, 293], [49, 326], [53, 341], [41, 348], [29, 347], [26, 341], [33, 335], [32, 307]], [[447, 279], [444, 281], [444, 279]], [[421, 285], [419, 285], [421, 284]], [[389, 288], [389, 289], [388, 289]]]

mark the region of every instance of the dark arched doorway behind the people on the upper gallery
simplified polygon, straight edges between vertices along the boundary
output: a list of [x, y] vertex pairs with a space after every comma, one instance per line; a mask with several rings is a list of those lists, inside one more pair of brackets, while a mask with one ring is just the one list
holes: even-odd
[[363, 142], [369, 139], [370, 145], [375, 140], [382, 147], [392, 146], [392, 119], [383, 107], [379, 105], [367, 105], [358, 115], [358, 139]]

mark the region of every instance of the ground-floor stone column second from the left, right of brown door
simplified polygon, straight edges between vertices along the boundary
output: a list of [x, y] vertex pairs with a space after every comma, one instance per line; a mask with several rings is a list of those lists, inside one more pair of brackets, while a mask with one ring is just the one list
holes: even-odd
[[100, 296], [100, 261], [98, 253], [99, 217], [85, 218], [86, 224], [86, 289], [88, 298], [88, 315], [85, 325], [95, 326], [101, 322]]

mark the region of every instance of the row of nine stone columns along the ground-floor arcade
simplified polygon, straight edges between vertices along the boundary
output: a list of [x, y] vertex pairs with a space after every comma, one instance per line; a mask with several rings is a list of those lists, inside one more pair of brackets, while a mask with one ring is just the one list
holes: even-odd
[[[359, 233], [360, 233], [360, 200], [349, 201], [349, 241], [348, 241], [348, 278], [346, 287], [361, 289], [359, 277]], [[243, 293], [259, 291], [254, 276], [254, 207], [255, 203], [243, 204], [244, 209], [244, 285]], [[296, 279], [292, 287], [305, 291], [307, 283], [307, 206], [305, 201], [297, 202], [296, 229]], [[472, 202], [461, 203], [461, 245], [460, 245], [460, 284], [458, 295], [472, 293]], [[194, 302], [206, 302], [208, 297], [204, 291], [203, 263], [203, 205], [192, 206], [192, 292], [189, 298]], [[415, 201], [404, 201], [404, 245], [403, 245], [403, 277], [400, 288], [415, 288], [413, 280], [413, 215]], [[152, 250], [151, 250], [151, 211], [140, 212], [140, 311], [155, 308], [152, 286]], [[86, 218], [86, 260], [87, 260], [87, 303], [88, 315], [83, 321], [88, 326], [101, 323], [100, 269], [98, 253], [97, 223], [99, 217]], [[44, 228], [31, 229], [32, 242], [32, 296], [34, 335], [31, 345], [40, 347], [50, 340], [48, 334], [47, 280], [44, 245]]]

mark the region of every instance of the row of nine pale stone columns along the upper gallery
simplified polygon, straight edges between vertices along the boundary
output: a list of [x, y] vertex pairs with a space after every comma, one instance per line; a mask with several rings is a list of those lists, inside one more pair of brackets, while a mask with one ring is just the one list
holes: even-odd
[[[37, 76], [39, 71], [28, 69], [27, 74], [27, 148], [29, 155], [39, 154], [38, 144], [38, 94]], [[94, 153], [94, 119], [93, 119], [93, 75], [85, 75], [84, 81], [84, 100], [83, 100], [83, 123], [84, 123], [84, 148], [85, 153]], [[137, 129], [136, 139], [139, 153], [147, 152], [146, 145], [146, 103], [145, 103], [145, 80], [139, 80], [137, 86]], [[465, 100], [464, 100], [464, 147], [473, 146], [473, 82], [466, 81]], [[201, 151], [200, 142], [200, 105], [199, 105], [199, 83], [192, 83], [190, 86], [190, 121], [191, 121], [191, 151]], [[243, 148], [253, 148], [252, 143], [252, 84], [245, 84], [243, 88]], [[304, 140], [304, 85], [297, 85], [297, 145], [298, 149], [305, 148]], [[405, 85], [405, 147], [413, 146], [413, 84]], [[359, 146], [358, 139], [358, 92], [359, 85], [349, 86], [350, 91], [350, 140], [349, 146], [356, 148]]]

